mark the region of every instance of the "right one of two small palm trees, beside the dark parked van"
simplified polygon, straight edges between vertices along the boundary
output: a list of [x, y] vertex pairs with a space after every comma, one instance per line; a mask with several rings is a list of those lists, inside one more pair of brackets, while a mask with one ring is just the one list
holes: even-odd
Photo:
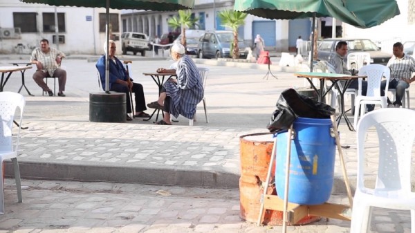
[[246, 13], [233, 10], [223, 10], [219, 12], [219, 18], [221, 19], [223, 26], [232, 28], [232, 31], [234, 33], [234, 41], [232, 42], [231, 46], [231, 53], [233, 59], [239, 58], [238, 28], [239, 26], [245, 24], [246, 16]]

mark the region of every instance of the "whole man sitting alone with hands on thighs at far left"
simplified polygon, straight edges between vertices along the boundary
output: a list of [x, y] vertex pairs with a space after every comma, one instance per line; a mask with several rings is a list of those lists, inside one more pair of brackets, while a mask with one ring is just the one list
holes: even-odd
[[64, 53], [56, 48], [49, 47], [49, 41], [47, 39], [40, 41], [40, 48], [35, 48], [30, 57], [30, 63], [36, 64], [37, 67], [37, 71], [33, 74], [33, 80], [44, 91], [47, 91], [49, 96], [53, 95], [53, 91], [44, 82], [45, 77], [57, 77], [59, 84], [59, 92], [57, 95], [65, 96], [66, 71], [59, 68], [64, 57]]

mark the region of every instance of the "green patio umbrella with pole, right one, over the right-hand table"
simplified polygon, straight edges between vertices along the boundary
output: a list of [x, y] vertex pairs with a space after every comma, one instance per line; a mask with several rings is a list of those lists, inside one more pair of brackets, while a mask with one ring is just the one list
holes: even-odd
[[[315, 17], [334, 17], [358, 28], [370, 28], [400, 14], [395, 0], [235, 0], [234, 10], [267, 19], [312, 17], [312, 34]], [[313, 50], [314, 39], [312, 55]], [[313, 71], [313, 56], [310, 71]]]

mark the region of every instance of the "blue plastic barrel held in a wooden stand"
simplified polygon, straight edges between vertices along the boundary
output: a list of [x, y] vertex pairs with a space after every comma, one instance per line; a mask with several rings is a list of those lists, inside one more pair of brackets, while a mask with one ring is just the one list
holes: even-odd
[[[291, 139], [288, 201], [301, 205], [320, 205], [329, 200], [333, 188], [335, 136], [330, 119], [297, 118]], [[277, 133], [275, 185], [284, 198], [287, 131]]]

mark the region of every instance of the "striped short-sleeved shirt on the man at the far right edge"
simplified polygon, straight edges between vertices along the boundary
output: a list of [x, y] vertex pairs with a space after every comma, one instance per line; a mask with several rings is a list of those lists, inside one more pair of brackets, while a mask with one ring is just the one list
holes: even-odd
[[387, 67], [391, 70], [390, 81], [409, 79], [412, 77], [412, 72], [415, 72], [415, 59], [406, 54], [402, 58], [393, 56], [387, 62]]

